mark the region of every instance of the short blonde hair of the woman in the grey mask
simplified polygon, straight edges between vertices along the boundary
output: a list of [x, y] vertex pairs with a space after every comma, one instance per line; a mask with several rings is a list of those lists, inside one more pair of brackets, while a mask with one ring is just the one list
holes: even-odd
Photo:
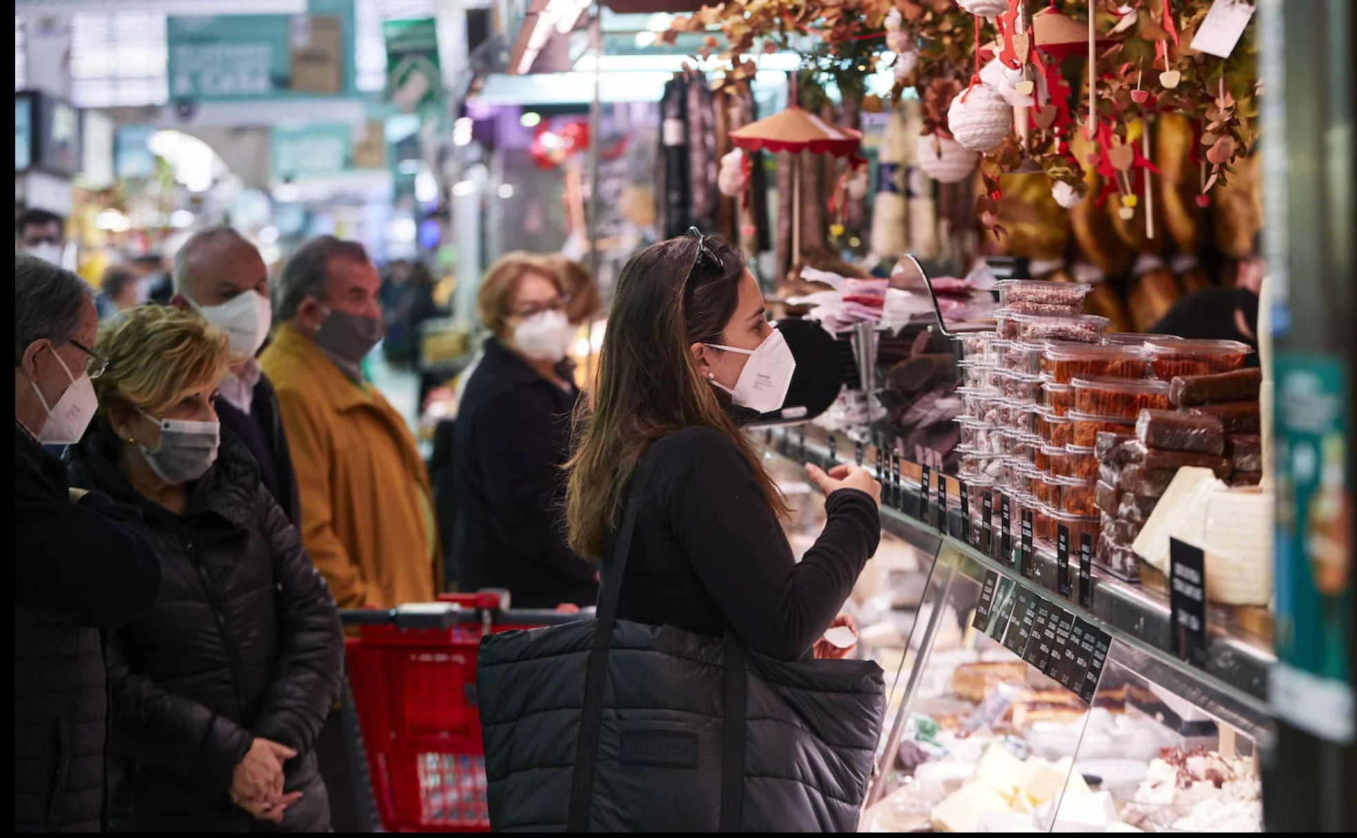
[[231, 340], [197, 312], [142, 305], [99, 332], [109, 369], [95, 378], [99, 414], [142, 410], [160, 416], [185, 395], [216, 384], [231, 363]]

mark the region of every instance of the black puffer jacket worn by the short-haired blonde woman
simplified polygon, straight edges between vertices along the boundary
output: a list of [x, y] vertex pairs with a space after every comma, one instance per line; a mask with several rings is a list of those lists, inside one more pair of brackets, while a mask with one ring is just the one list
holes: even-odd
[[110, 636], [110, 827], [263, 827], [229, 800], [254, 736], [296, 749], [288, 831], [328, 829], [312, 744], [338, 694], [343, 636], [324, 579], [263, 488], [250, 453], [223, 438], [217, 464], [175, 515], [118, 471], [102, 423], [72, 449], [71, 475], [138, 503], [160, 556], [160, 602]]

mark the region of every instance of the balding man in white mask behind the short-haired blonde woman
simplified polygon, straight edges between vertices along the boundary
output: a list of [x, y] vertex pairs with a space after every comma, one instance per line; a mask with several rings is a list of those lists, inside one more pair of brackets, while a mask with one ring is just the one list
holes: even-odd
[[269, 338], [269, 268], [259, 251], [229, 226], [195, 233], [175, 254], [171, 305], [195, 309], [231, 338], [231, 370], [221, 381], [217, 418], [259, 464], [259, 475], [294, 526], [301, 526], [297, 476], [278, 396], [255, 354]]

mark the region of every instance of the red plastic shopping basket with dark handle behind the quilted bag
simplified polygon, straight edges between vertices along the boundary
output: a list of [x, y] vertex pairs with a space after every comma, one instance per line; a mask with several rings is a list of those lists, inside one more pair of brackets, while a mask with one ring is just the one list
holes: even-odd
[[354, 705], [377, 811], [388, 831], [489, 831], [476, 709], [476, 650], [487, 632], [577, 620], [505, 610], [501, 593], [446, 594], [438, 606], [342, 612]]

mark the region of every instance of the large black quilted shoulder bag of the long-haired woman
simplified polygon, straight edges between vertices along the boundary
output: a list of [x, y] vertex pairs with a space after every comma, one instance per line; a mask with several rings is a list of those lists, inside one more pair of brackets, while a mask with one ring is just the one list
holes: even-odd
[[855, 831], [885, 715], [870, 660], [775, 660], [617, 621], [647, 468], [597, 618], [487, 635], [478, 658], [497, 831]]

